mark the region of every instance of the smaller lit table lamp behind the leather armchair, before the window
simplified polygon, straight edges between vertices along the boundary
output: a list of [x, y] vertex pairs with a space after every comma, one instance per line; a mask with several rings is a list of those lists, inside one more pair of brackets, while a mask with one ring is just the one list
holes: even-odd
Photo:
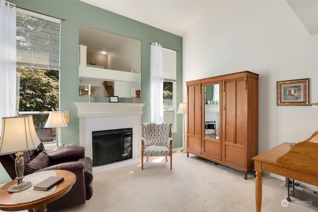
[[[50, 112], [49, 118], [46, 121], [44, 128], [61, 128], [67, 126], [68, 125], [65, 122], [64, 113], [60, 111], [52, 111]], [[58, 132], [58, 130], [56, 132]], [[60, 149], [60, 147], [58, 141], [58, 134], [56, 134], [56, 147], [52, 151], [58, 149]]]

